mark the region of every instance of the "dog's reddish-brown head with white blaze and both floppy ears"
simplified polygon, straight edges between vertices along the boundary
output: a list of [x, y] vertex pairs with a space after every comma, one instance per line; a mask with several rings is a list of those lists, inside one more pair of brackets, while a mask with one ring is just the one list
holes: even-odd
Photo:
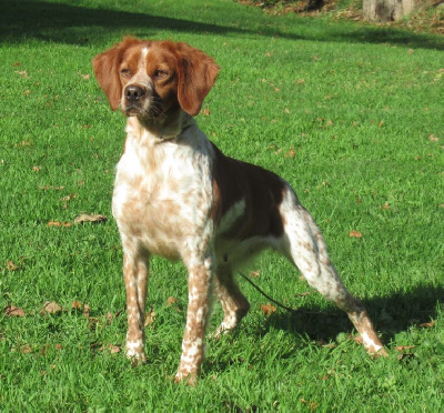
[[179, 108], [198, 114], [219, 72], [213, 59], [186, 43], [133, 38], [98, 54], [92, 66], [112, 110], [153, 120]]

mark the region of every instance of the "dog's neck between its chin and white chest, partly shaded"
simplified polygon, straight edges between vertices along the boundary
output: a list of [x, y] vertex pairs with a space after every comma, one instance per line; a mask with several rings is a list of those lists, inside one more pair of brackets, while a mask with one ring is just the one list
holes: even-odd
[[180, 139], [181, 133], [195, 123], [191, 115], [179, 109], [163, 119], [130, 117], [127, 121], [127, 131], [131, 130], [133, 134], [140, 137], [149, 132], [157, 141], [162, 142]]

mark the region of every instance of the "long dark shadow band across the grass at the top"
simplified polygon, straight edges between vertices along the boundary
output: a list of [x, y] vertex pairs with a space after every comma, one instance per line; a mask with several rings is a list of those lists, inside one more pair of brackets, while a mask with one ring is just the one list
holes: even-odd
[[[89, 37], [108, 41], [110, 32], [129, 32], [140, 37], [152, 37], [158, 31], [171, 30], [209, 34], [253, 34], [332, 42], [387, 43], [410, 48], [444, 50], [438, 37], [414, 34], [396, 29], [381, 29], [371, 26], [343, 26], [324, 23], [322, 32], [312, 30], [311, 19], [300, 19], [297, 27], [304, 27], [304, 34], [283, 32], [279, 27], [263, 26], [260, 30], [239, 28], [238, 20], [224, 23], [203, 23], [193, 20], [174, 19], [149, 13], [90, 9], [82, 6], [50, 3], [44, 1], [14, 0], [3, 2], [0, 9], [0, 41], [18, 43], [36, 39], [68, 44], [85, 44]], [[279, 18], [276, 18], [279, 19]], [[222, 20], [222, 19], [221, 19]], [[271, 21], [271, 20], [270, 20]], [[316, 23], [321, 24], [320, 22]], [[297, 28], [295, 29], [295, 31]], [[310, 34], [312, 32], [312, 34]]]

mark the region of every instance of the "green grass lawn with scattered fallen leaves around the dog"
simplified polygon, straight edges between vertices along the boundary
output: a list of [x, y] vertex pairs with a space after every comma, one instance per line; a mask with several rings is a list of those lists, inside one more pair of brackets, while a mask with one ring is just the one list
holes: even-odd
[[[442, 37], [270, 17], [230, 0], [20, 0], [0, 14], [1, 411], [443, 410]], [[265, 316], [266, 300], [239, 280], [252, 310], [233, 335], [209, 342], [196, 387], [171, 380], [186, 308], [181, 264], [152, 263], [149, 363], [111, 352], [125, 335], [110, 210], [124, 119], [90, 62], [127, 33], [216, 59], [201, 128], [226, 154], [292, 183], [389, 359], [367, 356], [346, 316], [271, 253], [253, 265], [255, 281], [301, 313]], [[109, 220], [48, 226], [81, 213]], [[41, 313], [47, 301], [65, 311]], [[8, 316], [11, 304], [26, 316]], [[212, 328], [220, 318], [215, 305]]]

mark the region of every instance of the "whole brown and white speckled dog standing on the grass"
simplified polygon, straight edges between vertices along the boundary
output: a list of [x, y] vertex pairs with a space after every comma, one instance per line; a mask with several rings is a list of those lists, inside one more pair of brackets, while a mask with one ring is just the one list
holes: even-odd
[[213, 284], [234, 329], [249, 311], [233, 273], [265, 248], [285, 255], [325, 299], [344, 310], [370, 353], [386, 354], [362, 303], [343, 285], [325, 241], [287, 182], [225, 157], [192, 117], [219, 67], [185, 43], [125, 38], [93, 59], [111, 109], [128, 117], [117, 168], [113, 215], [123, 245], [127, 354], [145, 361], [144, 313], [149, 259], [181, 259], [189, 303], [176, 381], [194, 383]]

